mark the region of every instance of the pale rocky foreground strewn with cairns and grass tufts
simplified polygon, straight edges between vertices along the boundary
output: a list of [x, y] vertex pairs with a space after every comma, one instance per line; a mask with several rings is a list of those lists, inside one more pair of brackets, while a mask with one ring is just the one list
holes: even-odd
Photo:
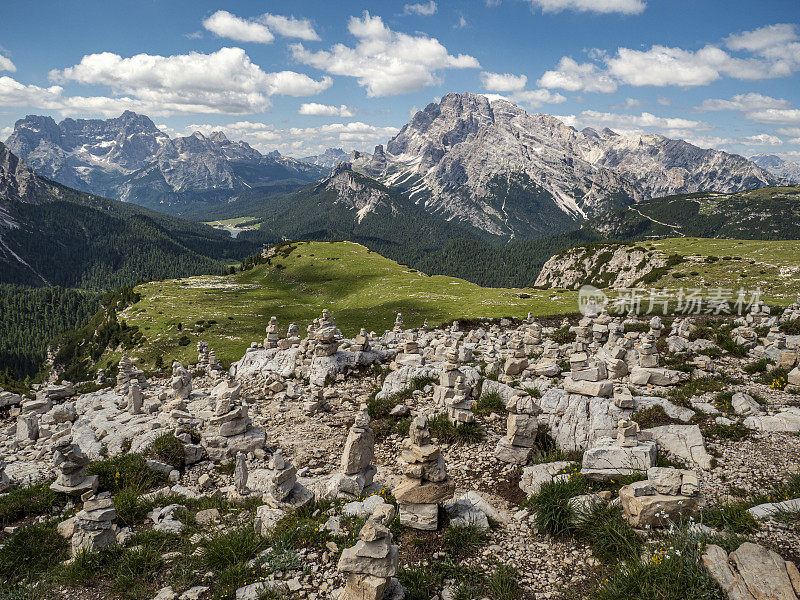
[[[0, 581], [33, 598], [688, 597], [631, 588], [627, 564], [638, 586], [651, 569], [659, 589], [800, 597], [783, 562], [800, 562], [799, 322], [398, 318], [345, 340], [324, 314], [302, 339], [271, 322], [229, 372], [203, 346], [171, 374], [122, 361], [3, 392]], [[659, 571], [687, 556], [696, 581]]]

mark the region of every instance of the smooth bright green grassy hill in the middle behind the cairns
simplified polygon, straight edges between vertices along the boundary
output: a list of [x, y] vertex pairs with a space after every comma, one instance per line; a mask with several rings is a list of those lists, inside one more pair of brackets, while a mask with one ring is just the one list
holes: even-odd
[[[407, 327], [453, 319], [566, 314], [576, 310], [575, 292], [482, 288], [445, 276], [428, 277], [350, 242], [302, 242], [285, 259], [233, 276], [201, 276], [137, 286], [142, 301], [124, 318], [138, 325], [148, 343], [131, 354], [152, 365], [178, 359], [194, 362], [196, 343], [206, 340], [225, 361], [238, 360], [251, 341], [264, 338], [272, 315], [281, 327], [296, 321], [301, 331], [328, 308], [345, 335], [360, 327], [383, 332], [402, 312]], [[198, 320], [215, 320], [194, 332]], [[178, 323], [182, 329], [178, 330]], [[178, 346], [182, 335], [191, 340]]]

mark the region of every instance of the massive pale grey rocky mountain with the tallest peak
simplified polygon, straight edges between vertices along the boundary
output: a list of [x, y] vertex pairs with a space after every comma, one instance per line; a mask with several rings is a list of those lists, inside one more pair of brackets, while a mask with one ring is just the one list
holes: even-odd
[[576, 129], [506, 100], [447, 94], [353, 167], [447, 219], [510, 239], [574, 229], [666, 194], [733, 192], [777, 179], [744, 157], [661, 135]]

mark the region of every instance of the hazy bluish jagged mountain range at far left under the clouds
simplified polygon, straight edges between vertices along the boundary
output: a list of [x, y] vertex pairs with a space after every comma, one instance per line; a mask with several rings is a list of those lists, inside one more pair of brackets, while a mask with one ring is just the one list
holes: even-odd
[[82, 191], [165, 212], [190, 212], [194, 203], [225, 202], [238, 192], [314, 181], [324, 169], [261, 154], [223, 133], [171, 139], [146, 116], [114, 119], [29, 115], [17, 121], [6, 145], [38, 174]]

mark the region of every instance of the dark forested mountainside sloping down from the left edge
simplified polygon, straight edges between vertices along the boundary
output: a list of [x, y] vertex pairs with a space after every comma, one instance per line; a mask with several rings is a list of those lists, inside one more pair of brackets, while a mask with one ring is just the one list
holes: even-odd
[[219, 272], [256, 250], [206, 225], [40, 177], [0, 144], [0, 283], [107, 289]]

